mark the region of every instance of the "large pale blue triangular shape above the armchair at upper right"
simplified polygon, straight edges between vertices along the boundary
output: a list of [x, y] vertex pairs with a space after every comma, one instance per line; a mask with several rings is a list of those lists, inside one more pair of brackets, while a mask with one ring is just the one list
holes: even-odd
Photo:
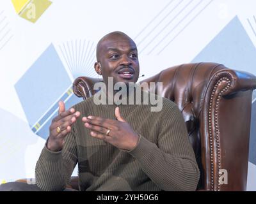
[[239, 19], [234, 17], [192, 62], [218, 62], [256, 74], [256, 48]]

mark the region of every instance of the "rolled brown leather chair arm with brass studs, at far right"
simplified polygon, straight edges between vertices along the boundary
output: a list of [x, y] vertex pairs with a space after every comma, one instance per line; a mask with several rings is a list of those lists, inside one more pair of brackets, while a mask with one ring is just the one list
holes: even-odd
[[[212, 75], [205, 89], [200, 135], [206, 190], [246, 190], [255, 88], [256, 77], [250, 73], [221, 69]], [[220, 180], [221, 170], [227, 170], [227, 183]]]

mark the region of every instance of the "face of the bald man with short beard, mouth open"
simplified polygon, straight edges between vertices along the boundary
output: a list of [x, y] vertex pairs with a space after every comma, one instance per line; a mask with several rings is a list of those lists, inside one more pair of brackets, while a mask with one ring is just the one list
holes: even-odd
[[127, 36], [113, 35], [100, 43], [99, 62], [105, 84], [108, 77], [116, 82], [136, 83], [140, 73], [136, 44]]

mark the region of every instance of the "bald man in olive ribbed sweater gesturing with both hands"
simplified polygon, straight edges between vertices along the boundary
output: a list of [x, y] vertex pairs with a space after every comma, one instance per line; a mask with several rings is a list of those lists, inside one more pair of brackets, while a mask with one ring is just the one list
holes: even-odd
[[[116, 93], [108, 90], [109, 78], [127, 88], [136, 83], [140, 65], [134, 41], [121, 32], [104, 36], [97, 45], [95, 71], [106, 84], [102, 92], [108, 102], [109, 92]], [[40, 189], [65, 189], [77, 163], [81, 191], [196, 189], [199, 170], [175, 103], [163, 99], [162, 110], [151, 112], [151, 105], [95, 105], [97, 94], [67, 111], [59, 103], [36, 164]], [[128, 101], [132, 94], [127, 91], [122, 99]]]

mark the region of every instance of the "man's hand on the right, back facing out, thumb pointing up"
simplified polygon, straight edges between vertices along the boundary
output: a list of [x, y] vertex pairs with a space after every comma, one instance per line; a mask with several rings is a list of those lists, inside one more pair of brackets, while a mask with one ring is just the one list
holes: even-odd
[[[119, 108], [115, 109], [117, 120], [103, 119], [102, 117], [83, 117], [84, 126], [91, 129], [90, 135], [111, 143], [122, 150], [131, 150], [136, 147], [139, 136], [120, 115]], [[108, 129], [110, 130], [108, 133]], [[106, 135], [108, 133], [108, 135]]]

